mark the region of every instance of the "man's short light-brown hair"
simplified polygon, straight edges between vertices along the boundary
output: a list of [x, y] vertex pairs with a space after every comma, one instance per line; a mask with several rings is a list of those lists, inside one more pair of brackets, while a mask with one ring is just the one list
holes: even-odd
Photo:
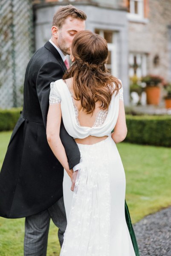
[[60, 6], [55, 15], [53, 16], [52, 26], [57, 26], [61, 28], [64, 25], [66, 18], [71, 16], [72, 18], [80, 19], [85, 21], [87, 19], [87, 15], [85, 12], [77, 9], [75, 6]]

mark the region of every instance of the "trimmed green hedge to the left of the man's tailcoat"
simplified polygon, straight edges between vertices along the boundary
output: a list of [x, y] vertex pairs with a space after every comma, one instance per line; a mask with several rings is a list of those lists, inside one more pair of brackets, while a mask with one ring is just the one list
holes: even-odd
[[21, 110], [21, 108], [0, 109], [0, 131], [14, 129], [14, 126], [20, 117]]

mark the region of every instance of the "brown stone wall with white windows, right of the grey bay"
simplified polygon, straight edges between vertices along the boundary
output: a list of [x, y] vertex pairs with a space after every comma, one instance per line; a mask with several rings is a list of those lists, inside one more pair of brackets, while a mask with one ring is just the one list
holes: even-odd
[[171, 1], [125, 0], [129, 76], [160, 75], [171, 82]]

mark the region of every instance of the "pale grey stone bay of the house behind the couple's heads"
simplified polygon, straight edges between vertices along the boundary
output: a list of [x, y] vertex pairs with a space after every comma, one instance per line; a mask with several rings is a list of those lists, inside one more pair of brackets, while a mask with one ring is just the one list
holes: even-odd
[[72, 5], [87, 14], [86, 29], [99, 33], [108, 42], [107, 68], [122, 80], [125, 105], [129, 104], [128, 19], [127, 9], [119, 0], [36, 0], [35, 47], [43, 46], [51, 36], [52, 17], [61, 5]]

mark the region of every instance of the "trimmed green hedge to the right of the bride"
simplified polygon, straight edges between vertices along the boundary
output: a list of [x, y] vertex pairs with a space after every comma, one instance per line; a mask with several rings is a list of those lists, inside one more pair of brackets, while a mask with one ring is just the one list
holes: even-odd
[[171, 147], [171, 116], [126, 115], [128, 134], [125, 141]]

